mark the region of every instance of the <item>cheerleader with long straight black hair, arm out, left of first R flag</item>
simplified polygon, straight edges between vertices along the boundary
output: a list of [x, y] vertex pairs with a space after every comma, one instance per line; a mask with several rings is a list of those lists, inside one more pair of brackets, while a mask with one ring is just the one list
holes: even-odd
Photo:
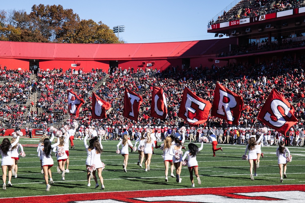
[[[50, 191], [50, 184], [53, 184], [53, 180], [52, 180], [52, 175], [51, 175], [51, 167], [53, 166], [54, 162], [51, 156], [51, 152], [52, 152], [52, 148], [54, 148], [55, 146], [59, 145], [59, 138], [57, 138], [57, 142], [53, 145], [51, 145], [51, 142], [48, 138], [45, 138], [44, 142], [43, 142], [43, 148], [42, 150], [42, 169], [44, 172], [44, 177], [45, 177], [45, 184], [47, 185], [46, 187], [46, 191]], [[50, 176], [50, 184], [48, 182], [48, 175]]]

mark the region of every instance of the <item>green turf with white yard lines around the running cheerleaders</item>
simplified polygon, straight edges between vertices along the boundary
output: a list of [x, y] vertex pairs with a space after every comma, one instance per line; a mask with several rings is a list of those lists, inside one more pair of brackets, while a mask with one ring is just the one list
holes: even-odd
[[[38, 138], [21, 138], [21, 144], [37, 144]], [[0, 142], [2, 139], [0, 139]], [[134, 141], [132, 141], [134, 143]], [[26, 157], [20, 158], [18, 163], [18, 178], [12, 177], [13, 187], [7, 187], [6, 191], [0, 190], [0, 196], [23, 197], [51, 194], [71, 194], [100, 192], [100, 187], [95, 189], [95, 182], [91, 180], [91, 187], [87, 187], [85, 160], [87, 157], [84, 142], [74, 140], [75, 149], [70, 150], [70, 173], [66, 173], [65, 180], [61, 180], [61, 174], [56, 172], [57, 161], [54, 159], [52, 178], [54, 184], [49, 192], [45, 191], [45, 181], [41, 174], [40, 162], [34, 147], [24, 147]], [[130, 152], [127, 173], [122, 169], [123, 156], [116, 154], [118, 141], [102, 141], [104, 152], [101, 155], [102, 162], [106, 164], [102, 172], [106, 191], [129, 191], [129, 190], [151, 190], [151, 189], [174, 189], [191, 186], [189, 173], [186, 166], [182, 166], [182, 182], [177, 183], [176, 178], [169, 177], [164, 181], [164, 164], [162, 151], [155, 149], [152, 155], [150, 172], [137, 165], [138, 153]], [[186, 143], [188, 144], [188, 143]], [[199, 146], [199, 144], [198, 144]], [[216, 152], [212, 157], [212, 145], [204, 144], [203, 150], [197, 156], [199, 175], [202, 184], [195, 187], [222, 187], [222, 186], [253, 186], [253, 185], [276, 185], [279, 182], [279, 170], [276, 147], [262, 147], [264, 159], [260, 158], [260, 168], [257, 169], [255, 181], [249, 177], [249, 163], [241, 159], [245, 152], [244, 145], [217, 145], [223, 147], [223, 152]], [[287, 179], [283, 184], [304, 184], [305, 153], [303, 147], [289, 147], [292, 154], [292, 162], [287, 164]], [[55, 156], [54, 153], [52, 156]], [[143, 163], [144, 166], [144, 163]], [[175, 173], [175, 172], [174, 172]], [[253, 172], [254, 173], [254, 172]], [[170, 175], [170, 174], [169, 174]], [[196, 179], [195, 179], [196, 180]], [[6, 180], [7, 181], [7, 180]], [[7, 183], [7, 182], [6, 182]], [[1, 182], [1, 185], [3, 183]]]

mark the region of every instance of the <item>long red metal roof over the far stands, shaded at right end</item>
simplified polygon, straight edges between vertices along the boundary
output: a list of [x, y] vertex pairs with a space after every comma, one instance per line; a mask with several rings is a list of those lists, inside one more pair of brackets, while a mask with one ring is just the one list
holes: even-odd
[[146, 44], [59, 44], [0, 41], [0, 57], [33, 59], [180, 58], [216, 54], [236, 39]]

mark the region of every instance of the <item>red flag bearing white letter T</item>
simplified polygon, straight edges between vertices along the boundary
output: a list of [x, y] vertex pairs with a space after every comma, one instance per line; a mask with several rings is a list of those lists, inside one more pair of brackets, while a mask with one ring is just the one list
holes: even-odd
[[142, 96], [125, 88], [123, 115], [134, 121], [138, 121], [140, 105], [143, 102]]

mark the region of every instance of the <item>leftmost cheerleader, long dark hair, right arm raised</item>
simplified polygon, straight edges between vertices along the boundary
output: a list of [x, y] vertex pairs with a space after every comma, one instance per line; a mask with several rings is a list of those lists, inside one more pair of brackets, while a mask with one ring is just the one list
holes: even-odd
[[1, 168], [2, 168], [2, 180], [3, 180], [3, 190], [6, 190], [6, 169], [9, 170], [9, 182], [8, 185], [13, 186], [11, 183], [12, 178], [12, 167], [13, 167], [13, 160], [11, 158], [11, 150], [12, 148], [18, 143], [19, 136], [17, 136], [15, 142], [9, 142], [8, 138], [4, 138], [0, 145], [0, 152], [1, 152]]

